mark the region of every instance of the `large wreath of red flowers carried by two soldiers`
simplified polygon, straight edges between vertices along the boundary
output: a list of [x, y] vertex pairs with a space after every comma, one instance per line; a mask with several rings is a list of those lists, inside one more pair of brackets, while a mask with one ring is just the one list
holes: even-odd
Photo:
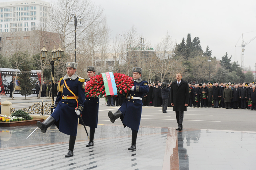
[[[132, 77], [121, 73], [113, 74], [116, 82], [117, 94], [125, 95], [125, 93], [127, 93], [133, 86]], [[86, 82], [84, 90], [86, 97], [106, 97], [102, 74], [90, 78], [91, 80]]]

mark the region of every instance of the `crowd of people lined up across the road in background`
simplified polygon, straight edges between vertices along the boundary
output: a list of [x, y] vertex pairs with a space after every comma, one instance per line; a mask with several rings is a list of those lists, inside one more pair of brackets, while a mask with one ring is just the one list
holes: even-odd
[[[213, 107], [226, 109], [255, 109], [256, 93], [255, 82], [252, 83], [223, 83], [218, 82], [206, 84], [189, 83], [189, 104], [188, 107]], [[162, 107], [166, 97], [163, 89], [171, 89], [172, 83], [148, 83], [148, 93], [142, 97], [143, 106]], [[167, 107], [170, 103], [171, 90], [168, 90]], [[108, 98], [108, 106], [119, 106], [124, 99], [120, 96]], [[166, 111], [163, 111], [163, 113]]]

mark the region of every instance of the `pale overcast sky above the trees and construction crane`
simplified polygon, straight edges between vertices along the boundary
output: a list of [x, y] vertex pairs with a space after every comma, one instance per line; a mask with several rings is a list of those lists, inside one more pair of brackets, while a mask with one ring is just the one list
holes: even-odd
[[[177, 43], [191, 33], [191, 39], [200, 38], [204, 51], [209, 45], [212, 57], [221, 59], [227, 52], [240, 65], [241, 47], [235, 45], [241, 46], [241, 34], [244, 42], [256, 36], [255, 0], [95, 0], [95, 4], [104, 9], [112, 37], [133, 25], [155, 47], [167, 31]], [[251, 65], [253, 70], [255, 46], [256, 39], [245, 46], [245, 67]]]

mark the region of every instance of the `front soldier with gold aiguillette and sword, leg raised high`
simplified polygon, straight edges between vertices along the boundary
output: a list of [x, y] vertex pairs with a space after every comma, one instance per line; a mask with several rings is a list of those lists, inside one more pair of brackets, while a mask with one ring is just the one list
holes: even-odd
[[43, 133], [54, 123], [60, 132], [69, 135], [69, 149], [65, 157], [74, 155], [78, 115], [84, 108], [84, 79], [76, 74], [77, 65], [75, 62], [66, 63], [67, 74], [60, 78], [53, 113], [45, 123], [37, 122]]

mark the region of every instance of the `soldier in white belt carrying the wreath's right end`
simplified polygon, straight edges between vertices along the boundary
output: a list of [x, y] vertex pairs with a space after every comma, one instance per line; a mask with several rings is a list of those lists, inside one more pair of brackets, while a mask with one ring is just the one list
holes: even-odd
[[114, 121], [120, 117], [124, 127], [128, 126], [132, 129], [132, 144], [128, 150], [136, 149], [136, 139], [140, 126], [140, 118], [142, 114], [142, 96], [144, 93], [148, 92], [148, 82], [142, 80], [142, 68], [133, 67], [132, 75], [134, 81], [134, 86], [128, 92], [128, 97], [124, 100], [121, 107], [112, 113], [109, 111], [108, 116], [110, 121]]

